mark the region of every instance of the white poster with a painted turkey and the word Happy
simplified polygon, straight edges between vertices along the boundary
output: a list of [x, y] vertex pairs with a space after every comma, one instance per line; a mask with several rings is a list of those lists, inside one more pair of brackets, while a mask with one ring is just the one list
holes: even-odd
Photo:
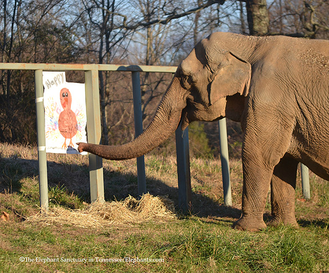
[[46, 151], [79, 153], [76, 143], [87, 142], [84, 84], [67, 83], [65, 72], [45, 71], [43, 86]]

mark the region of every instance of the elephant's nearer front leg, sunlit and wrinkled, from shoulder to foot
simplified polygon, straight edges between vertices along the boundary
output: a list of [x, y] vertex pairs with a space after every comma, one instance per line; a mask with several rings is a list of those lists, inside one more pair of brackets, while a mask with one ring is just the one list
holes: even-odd
[[263, 214], [273, 171], [290, 146], [295, 126], [293, 112], [285, 110], [282, 114], [282, 109], [286, 109], [281, 105], [282, 94], [273, 95], [273, 87], [261, 83], [264, 91], [250, 96], [242, 120], [242, 216], [235, 228], [243, 230], [266, 228]]

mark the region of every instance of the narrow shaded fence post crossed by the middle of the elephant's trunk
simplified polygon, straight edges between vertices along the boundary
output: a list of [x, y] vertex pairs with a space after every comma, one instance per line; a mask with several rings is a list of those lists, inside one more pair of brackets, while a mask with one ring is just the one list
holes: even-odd
[[[143, 132], [142, 117], [142, 99], [140, 91], [140, 75], [139, 72], [132, 72], [133, 84], [133, 101], [134, 101], [134, 121], [135, 121], [135, 138]], [[138, 195], [142, 196], [146, 193], [146, 175], [144, 155], [137, 159], [137, 185]]]

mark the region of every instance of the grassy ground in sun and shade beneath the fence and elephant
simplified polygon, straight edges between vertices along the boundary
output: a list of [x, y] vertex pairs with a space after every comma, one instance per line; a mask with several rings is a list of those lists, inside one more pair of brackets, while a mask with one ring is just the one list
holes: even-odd
[[161, 208], [176, 210], [145, 217], [151, 210], [129, 197], [137, 197], [136, 161], [104, 160], [107, 204], [129, 198], [137, 216], [122, 220], [89, 205], [87, 157], [47, 154], [50, 209], [41, 214], [36, 148], [0, 144], [0, 155], [0, 212], [9, 213], [0, 220], [0, 272], [329, 272], [329, 183], [312, 173], [310, 200], [298, 178], [300, 228], [243, 232], [231, 228], [241, 214], [241, 161], [230, 162], [233, 205], [225, 207], [220, 161], [191, 159], [192, 210], [181, 214], [175, 158], [147, 155], [151, 199], [167, 196]]

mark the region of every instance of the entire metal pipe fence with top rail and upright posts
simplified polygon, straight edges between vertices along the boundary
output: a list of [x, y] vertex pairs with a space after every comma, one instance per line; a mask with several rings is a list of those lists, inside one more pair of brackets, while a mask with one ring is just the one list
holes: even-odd
[[[39, 162], [39, 188], [40, 206], [48, 209], [48, 180], [47, 180], [47, 159], [45, 140], [45, 115], [43, 100], [43, 71], [84, 71], [85, 72], [85, 92], [87, 108], [87, 131], [88, 143], [100, 144], [101, 123], [100, 123], [100, 100], [99, 100], [99, 71], [121, 71], [132, 72], [135, 136], [142, 132], [141, 115], [141, 92], [140, 92], [140, 72], [161, 72], [174, 74], [177, 67], [173, 66], [137, 66], [137, 65], [104, 65], [104, 64], [31, 64], [31, 63], [0, 63], [0, 70], [32, 70], [34, 71], [35, 84], [35, 105], [36, 124], [38, 138], [38, 162]], [[231, 205], [231, 186], [228, 161], [228, 145], [226, 119], [218, 122], [220, 130], [221, 161], [223, 174], [223, 189], [225, 205]], [[190, 157], [188, 128], [182, 131], [180, 125], [176, 130], [176, 153], [177, 153], [177, 174], [178, 174], [178, 203], [183, 211], [187, 211], [191, 206], [192, 190], [190, 176]], [[89, 157], [89, 180], [90, 180], [90, 200], [104, 201], [104, 182], [102, 159], [97, 155], [88, 154]], [[308, 172], [306, 166], [302, 165], [303, 193], [305, 198], [309, 198]], [[138, 194], [147, 192], [145, 182], [144, 157], [137, 159]], [[305, 189], [304, 189], [305, 187]]]

